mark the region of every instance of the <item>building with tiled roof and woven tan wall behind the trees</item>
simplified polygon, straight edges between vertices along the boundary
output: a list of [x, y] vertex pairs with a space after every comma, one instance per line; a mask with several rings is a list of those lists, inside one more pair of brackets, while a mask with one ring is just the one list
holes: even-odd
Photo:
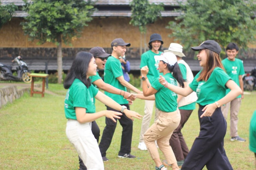
[[[32, 0], [29, 2], [32, 2]], [[92, 47], [100, 46], [111, 54], [110, 43], [114, 38], [118, 37], [122, 37], [126, 42], [131, 43], [131, 47], [126, 52], [126, 57], [131, 63], [131, 70], [140, 70], [140, 32], [137, 27], [129, 24], [131, 16], [130, 2], [131, 0], [98, 0], [96, 2], [95, 7], [98, 11], [92, 15], [93, 20], [89, 22], [88, 27], [84, 28], [82, 36], [72, 40], [72, 46], [62, 46], [63, 70], [68, 70], [71, 67], [72, 60], [78, 51], [89, 51]], [[148, 43], [152, 33], [159, 33], [164, 42], [162, 50], [167, 49], [169, 44], [174, 41], [168, 36], [171, 34], [171, 30], [167, 29], [166, 26], [169, 21], [174, 20], [174, 17], [180, 15], [179, 12], [174, 11], [175, 8], [179, 7], [179, 3], [177, 0], [149, 0], [149, 2], [164, 4], [165, 11], [161, 12], [162, 17], [155, 23], [148, 24], [145, 44]], [[180, 0], [180, 2], [185, 3], [186, 0]], [[1, 5], [10, 3], [14, 3], [17, 6], [24, 5], [23, 0], [1, 0]], [[31, 70], [44, 70], [45, 62], [48, 63], [49, 70], [57, 70], [56, 45], [52, 43], [37, 45], [35, 42], [29, 41], [28, 37], [24, 35], [20, 22], [27, 15], [24, 11], [16, 11], [12, 20], [1, 28], [1, 62], [12, 64], [10, 62], [11, 58], [21, 55]], [[198, 61], [193, 60], [194, 53], [185, 52], [185, 54], [187, 54], [185, 60], [191, 69], [194, 72], [198, 72], [201, 67]], [[254, 56], [253, 53], [247, 53], [246, 55], [249, 60], [244, 61], [245, 71], [250, 71], [256, 66], [256, 61], [251, 57]], [[243, 58], [243, 55], [240, 57]]]

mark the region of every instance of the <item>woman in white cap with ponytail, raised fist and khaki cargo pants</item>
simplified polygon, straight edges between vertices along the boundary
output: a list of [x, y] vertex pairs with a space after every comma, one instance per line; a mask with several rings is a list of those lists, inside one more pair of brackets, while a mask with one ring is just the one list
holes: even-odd
[[[184, 87], [184, 80], [182, 78], [180, 67], [177, 64], [177, 58], [173, 53], [165, 52], [162, 53], [160, 56], [156, 55], [155, 60], [159, 61], [159, 72], [163, 73], [163, 77], [165, 77], [165, 79], [169, 83], [176, 86], [178, 82], [182, 87]], [[168, 164], [172, 166], [173, 170], [177, 170], [179, 169], [179, 167], [177, 165], [175, 155], [169, 143], [169, 139], [173, 131], [177, 128], [181, 120], [180, 111], [177, 108], [177, 94], [169, 90], [168, 88], [163, 87], [158, 82], [159, 78], [155, 79], [150, 87], [147, 87], [147, 73], [148, 67], [142, 67], [141, 79], [144, 96], [140, 94], [133, 95], [137, 96], [140, 99], [155, 100], [156, 108], [159, 109], [159, 114], [158, 119], [155, 121], [155, 123], [150, 126], [150, 128], [143, 135], [143, 140], [145, 142], [148, 152], [150, 152], [150, 155], [156, 164], [156, 170], [163, 170], [166, 168], [161, 163], [159, 153], [155, 145], [155, 140], [157, 141], [159, 149], [165, 155]]]

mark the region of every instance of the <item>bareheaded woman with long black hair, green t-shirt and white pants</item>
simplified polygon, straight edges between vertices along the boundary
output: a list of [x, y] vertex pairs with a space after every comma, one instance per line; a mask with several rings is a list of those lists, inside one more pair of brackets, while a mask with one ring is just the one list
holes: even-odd
[[64, 81], [64, 88], [68, 89], [64, 105], [65, 115], [68, 119], [66, 135], [88, 169], [104, 169], [98, 142], [91, 132], [91, 121], [105, 116], [116, 122], [115, 119], [120, 119], [119, 116], [122, 116], [122, 113], [114, 111], [95, 113], [93, 98], [95, 97], [103, 104], [123, 113], [139, 115], [125, 109], [94, 87], [89, 77], [96, 75], [96, 72], [97, 65], [93, 55], [79, 52]]

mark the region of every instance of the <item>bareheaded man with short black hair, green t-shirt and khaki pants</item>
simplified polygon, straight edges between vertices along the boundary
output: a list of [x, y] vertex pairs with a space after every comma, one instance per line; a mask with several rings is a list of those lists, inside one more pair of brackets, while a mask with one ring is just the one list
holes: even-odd
[[[243, 61], [236, 58], [236, 55], [238, 54], [238, 46], [235, 43], [229, 43], [226, 48], [227, 58], [225, 58], [222, 61], [222, 64], [229, 75], [234, 82], [237, 83], [238, 86], [242, 89], [242, 92], [244, 91], [243, 88], [243, 79], [242, 75], [244, 74], [244, 66]], [[227, 89], [226, 94], [230, 89]], [[230, 136], [231, 141], [237, 140], [240, 142], [244, 142], [245, 139], [238, 136], [238, 130], [237, 130], [237, 124], [238, 124], [238, 112], [241, 105], [241, 99], [243, 99], [243, 93], [242, 95], [239, 95], [236, 99], [228, 102], [225, 106], [222, 106], [222, 113], [225, 119], [228, 117], [228, 110], [230, 108]]]

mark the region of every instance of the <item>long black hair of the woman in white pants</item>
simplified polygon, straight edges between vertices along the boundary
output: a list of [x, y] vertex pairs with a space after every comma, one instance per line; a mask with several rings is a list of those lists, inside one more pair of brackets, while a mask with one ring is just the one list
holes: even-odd
[[65, 89], [68, 89], [75, 79], [81, 80], [87, 88], [91, 85], [90, 79], [87, 79], [87, 70], [91, 58], [93, 58], [93, 55], [88, 52], [81, 51], [76, 54], [68, 75], [63, 83]]

